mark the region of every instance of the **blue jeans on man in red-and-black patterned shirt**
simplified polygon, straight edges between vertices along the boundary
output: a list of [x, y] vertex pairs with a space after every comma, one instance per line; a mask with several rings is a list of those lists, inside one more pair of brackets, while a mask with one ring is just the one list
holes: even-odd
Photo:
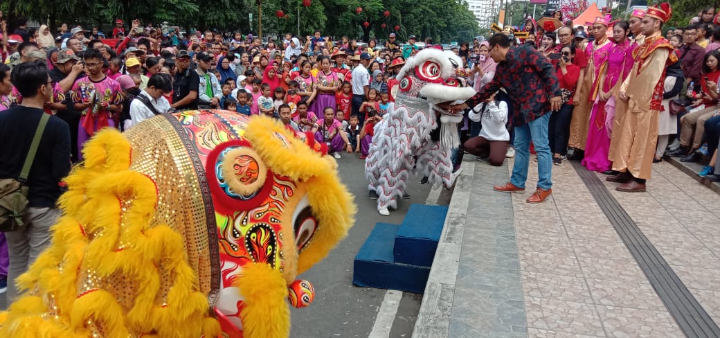
[[515, 127], [515, 165], [510, 183], [516, 187], [525, 188], [528, 180], [528, 166], [530, 164], [530, 141], [535, 145], [538, 155], [538, 186], [542, 190], [552, 188], [552, 154], [550, 154], [547, 128], [550, 114], [547, 113], [530, 123]]

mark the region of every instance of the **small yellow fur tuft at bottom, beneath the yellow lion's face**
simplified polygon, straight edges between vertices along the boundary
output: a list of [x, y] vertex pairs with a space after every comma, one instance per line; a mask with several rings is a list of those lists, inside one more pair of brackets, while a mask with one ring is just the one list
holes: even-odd
[[240, 312], [245, 338], [285, 338], [290, 335], [287, 285], [268, 264], [248, 264], [233, 286], [240, 288], [245, 308]]

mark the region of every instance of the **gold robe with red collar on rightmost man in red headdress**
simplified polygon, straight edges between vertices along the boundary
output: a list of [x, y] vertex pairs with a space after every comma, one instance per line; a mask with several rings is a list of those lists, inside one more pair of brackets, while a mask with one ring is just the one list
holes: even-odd
[[649, 179], [652, 173], [660, 115], [658, 94], [662, 99], [662, 87], [658, 92], [658, 85], [665, 79], [665, 67], [672, 48], [659, 43], [658, 39], [662, 37], [647, 37], [636, 48], [633, 69], [620, 87], [629, 100], [618, 99], [616, 102], [608, 152], [613, 170], [629, 172], [639, 179]]

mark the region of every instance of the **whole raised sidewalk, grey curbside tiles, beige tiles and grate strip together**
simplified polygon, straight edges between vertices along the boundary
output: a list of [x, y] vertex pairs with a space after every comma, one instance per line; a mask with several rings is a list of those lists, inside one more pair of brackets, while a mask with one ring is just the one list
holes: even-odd
[[549, 200], [529, 205], [534, 162], [526, 192], [503, 194], [492, 184], [508, 179], [512, 161], [465, 157], [473, 181], [456, 186], [450, 213], [460, 217], [446, 221], [459, 254], [433, 264], [413, 337], [718, 337], [716, 192], [667, 162], [647, 192], [616, 192], [565, 161], [553, 166]]

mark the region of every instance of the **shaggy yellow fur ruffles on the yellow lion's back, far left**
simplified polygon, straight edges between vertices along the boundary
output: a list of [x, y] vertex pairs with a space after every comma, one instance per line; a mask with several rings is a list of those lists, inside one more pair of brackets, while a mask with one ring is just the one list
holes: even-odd
[[[128, 169], [130, 143], [105, 129], [84, 154], [85, 165], [66, 180], [53, 244], [18, 278], [33, 295], [0, 313], [0, 337], [89, 337], [94, 327], [106, 337], [217, 337], [184, 239], [166, 225], [150, 228], [156, 186]], [[127, 295], [104, 289], [113, 283], [137, 286], [130, 308], [120, 303]]]

